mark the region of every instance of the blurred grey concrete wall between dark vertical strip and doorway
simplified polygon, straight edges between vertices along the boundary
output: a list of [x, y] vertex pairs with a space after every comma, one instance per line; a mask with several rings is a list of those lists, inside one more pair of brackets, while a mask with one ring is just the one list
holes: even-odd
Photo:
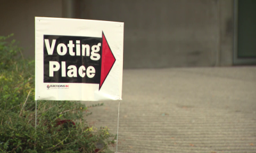
[[124, 68], [226, 66], [232, 7], [232, 0], [84, 0], [82, 18], [125, 22]]

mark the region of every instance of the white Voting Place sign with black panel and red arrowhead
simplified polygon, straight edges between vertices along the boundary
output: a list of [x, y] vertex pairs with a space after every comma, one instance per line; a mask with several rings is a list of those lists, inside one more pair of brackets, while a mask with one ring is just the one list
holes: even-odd
[[124, 23], [35, 18], [35, 100], [122, 99]]

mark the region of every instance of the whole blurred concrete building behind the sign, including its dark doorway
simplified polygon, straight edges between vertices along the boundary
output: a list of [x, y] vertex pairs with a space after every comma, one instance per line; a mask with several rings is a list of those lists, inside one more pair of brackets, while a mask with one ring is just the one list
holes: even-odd
[[255, 0], [0, 0], [0, 35], [32, 58], [35, 17], [124, 22], [124, 68], [256, 64]]

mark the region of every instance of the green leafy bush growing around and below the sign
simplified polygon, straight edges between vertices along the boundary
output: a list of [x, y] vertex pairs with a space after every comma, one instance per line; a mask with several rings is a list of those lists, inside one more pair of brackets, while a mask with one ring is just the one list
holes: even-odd
[[[84, 120], [91, 106], [37, 101], [35, 108], [35, 62], [17, 56], [20, 48], [6, 41], [10, 36], [0, 36], [0, 152], [95, 152], [99, 142], [105, 152], [113, 145], [116, 137], [108, 128], [89, 127]], [[58, 125], [60, 120], [76, 125]]]

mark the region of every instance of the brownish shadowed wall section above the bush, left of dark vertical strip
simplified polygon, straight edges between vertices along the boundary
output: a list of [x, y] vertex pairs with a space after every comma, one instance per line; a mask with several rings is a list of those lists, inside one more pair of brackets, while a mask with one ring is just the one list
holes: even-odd
[[1, 0], [0, 36], [14, 33], [25, 57], [35, 57], [35, 17], [61, 17], [61, 0]]

